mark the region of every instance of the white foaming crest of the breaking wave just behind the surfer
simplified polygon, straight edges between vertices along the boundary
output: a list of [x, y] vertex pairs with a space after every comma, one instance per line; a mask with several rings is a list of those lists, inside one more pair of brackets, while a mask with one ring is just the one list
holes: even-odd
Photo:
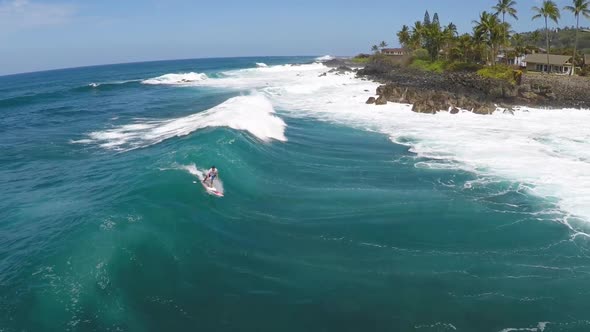
[[93, 132], [89, 134], [89, 140], [107, 149], [125, 151], [188, 135], [203, 128], [229, 127], [247, 131], [263, 141], [286, 141], [286, 124], [274, 113], [271, 102], [262, 95], [239, 96], [207, 111], [178, 119], [143, 120]]

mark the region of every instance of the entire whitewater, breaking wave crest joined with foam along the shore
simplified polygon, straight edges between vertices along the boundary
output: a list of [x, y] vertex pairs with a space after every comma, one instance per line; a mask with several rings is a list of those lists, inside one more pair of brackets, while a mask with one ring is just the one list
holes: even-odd
[[[458, 168], [483, 183], [510, 180], [523, 190], [558, 203], [562, 220], [590, 220], [590, 123], [588, 110], [517, 108], [481, 116], [469, 111], [418, 114], [411, 105], [367, 105], [377, 83], [354, 73], [330, 73], [321, 62], [265, 66], [221, 73], [170, 73], [146, 84], [254, 91], [213, 110], [183, 119], [130, 124], [90, 134], [104, 147], [144, 146], [208, 126], [246, 130], [261, 140], [285, 141], [279, 113], [313, 117], [388, 135], [416, 153], [417, 167]], [[327, 75], [322, 75], [328, 73]], [[443, 110], [444, 111], [444, 110]], [[473, 185], [470, 183], [469, 185]], [[476, 183], [477, 185], [477, 183]]]

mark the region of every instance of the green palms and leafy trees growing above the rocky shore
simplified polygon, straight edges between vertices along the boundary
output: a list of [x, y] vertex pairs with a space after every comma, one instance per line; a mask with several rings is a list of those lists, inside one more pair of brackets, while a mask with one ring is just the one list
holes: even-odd
[[[543, 29], [515, 33], [510, 20], [519, 18], [517, 0], [496, 0], [491, 11], [482, 11], [478, 19], [473, 21], [472, 33], [459, 35], [455, 24], [443, 24], [437, 13], [431, 18], [426, 11], [422, 20], [404, 25], [396, 35], [402, 47], [412, 54], [411, 59], [406, 61], [412, 68], [439, 73], [477, 71], [483, 77], [518, 81], [516, 78], [520, 77], [519, 71], [503, 65], [509, 63], [505, 59], [537, 53], [543, 51], [540, 48], [545, 48], [552, 54], [573, 54], [576, 65], [581, 66], [583, 54], [590, 53], [590, 33], [579, 33], [582, 29], [580, 18], [590, 18], [590, 0], [568, 1], [571, 1], [571, 6], [565, 6], [563, 10], [575, 17], [576, 27], [551, 30], [550, 22], [559, 23], [560, 8], [552, 0], [543, 0], [540, 6], [531, 8], [528, 16], [533, 20], [541, 18]], [[373, 45], [371, 50], [374, 55], [371, 60], [362, 58], [354, 61], [389, 61], [378, 58], [385, 46], [384, 42]], [[504, 56], [499, 57], [499, 54]], [[403, 63], [399, 60], [397, 62]], [[493, 68], [484, 68], [485, 66]], [[577, 72], [586, 74], [588, 70]]]

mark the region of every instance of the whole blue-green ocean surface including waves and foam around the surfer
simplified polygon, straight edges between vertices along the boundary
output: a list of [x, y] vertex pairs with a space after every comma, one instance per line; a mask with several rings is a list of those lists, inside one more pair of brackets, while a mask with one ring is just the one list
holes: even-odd
[[416, 114], [328, 70], [0, 77], [0, 331], [590, 331], [590, 111]]

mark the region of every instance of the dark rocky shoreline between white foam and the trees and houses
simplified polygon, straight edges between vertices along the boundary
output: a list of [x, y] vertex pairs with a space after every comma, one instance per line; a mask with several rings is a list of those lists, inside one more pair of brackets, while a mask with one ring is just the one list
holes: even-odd
[[530, 73], [515, 85], [473, 72], [438, 74], [384, 62], [360, 67], [350, 60], [335, 59], [324, 64], [332, 72], [354, 70], [358, 77], [382, 83], [368, 104], [407, 103], [419, 113], [458, 113], [463, 109], [491, 114], [498, 107], [512, 112], [515, 106], [590, 109], [590, 79], [586, 77]]

